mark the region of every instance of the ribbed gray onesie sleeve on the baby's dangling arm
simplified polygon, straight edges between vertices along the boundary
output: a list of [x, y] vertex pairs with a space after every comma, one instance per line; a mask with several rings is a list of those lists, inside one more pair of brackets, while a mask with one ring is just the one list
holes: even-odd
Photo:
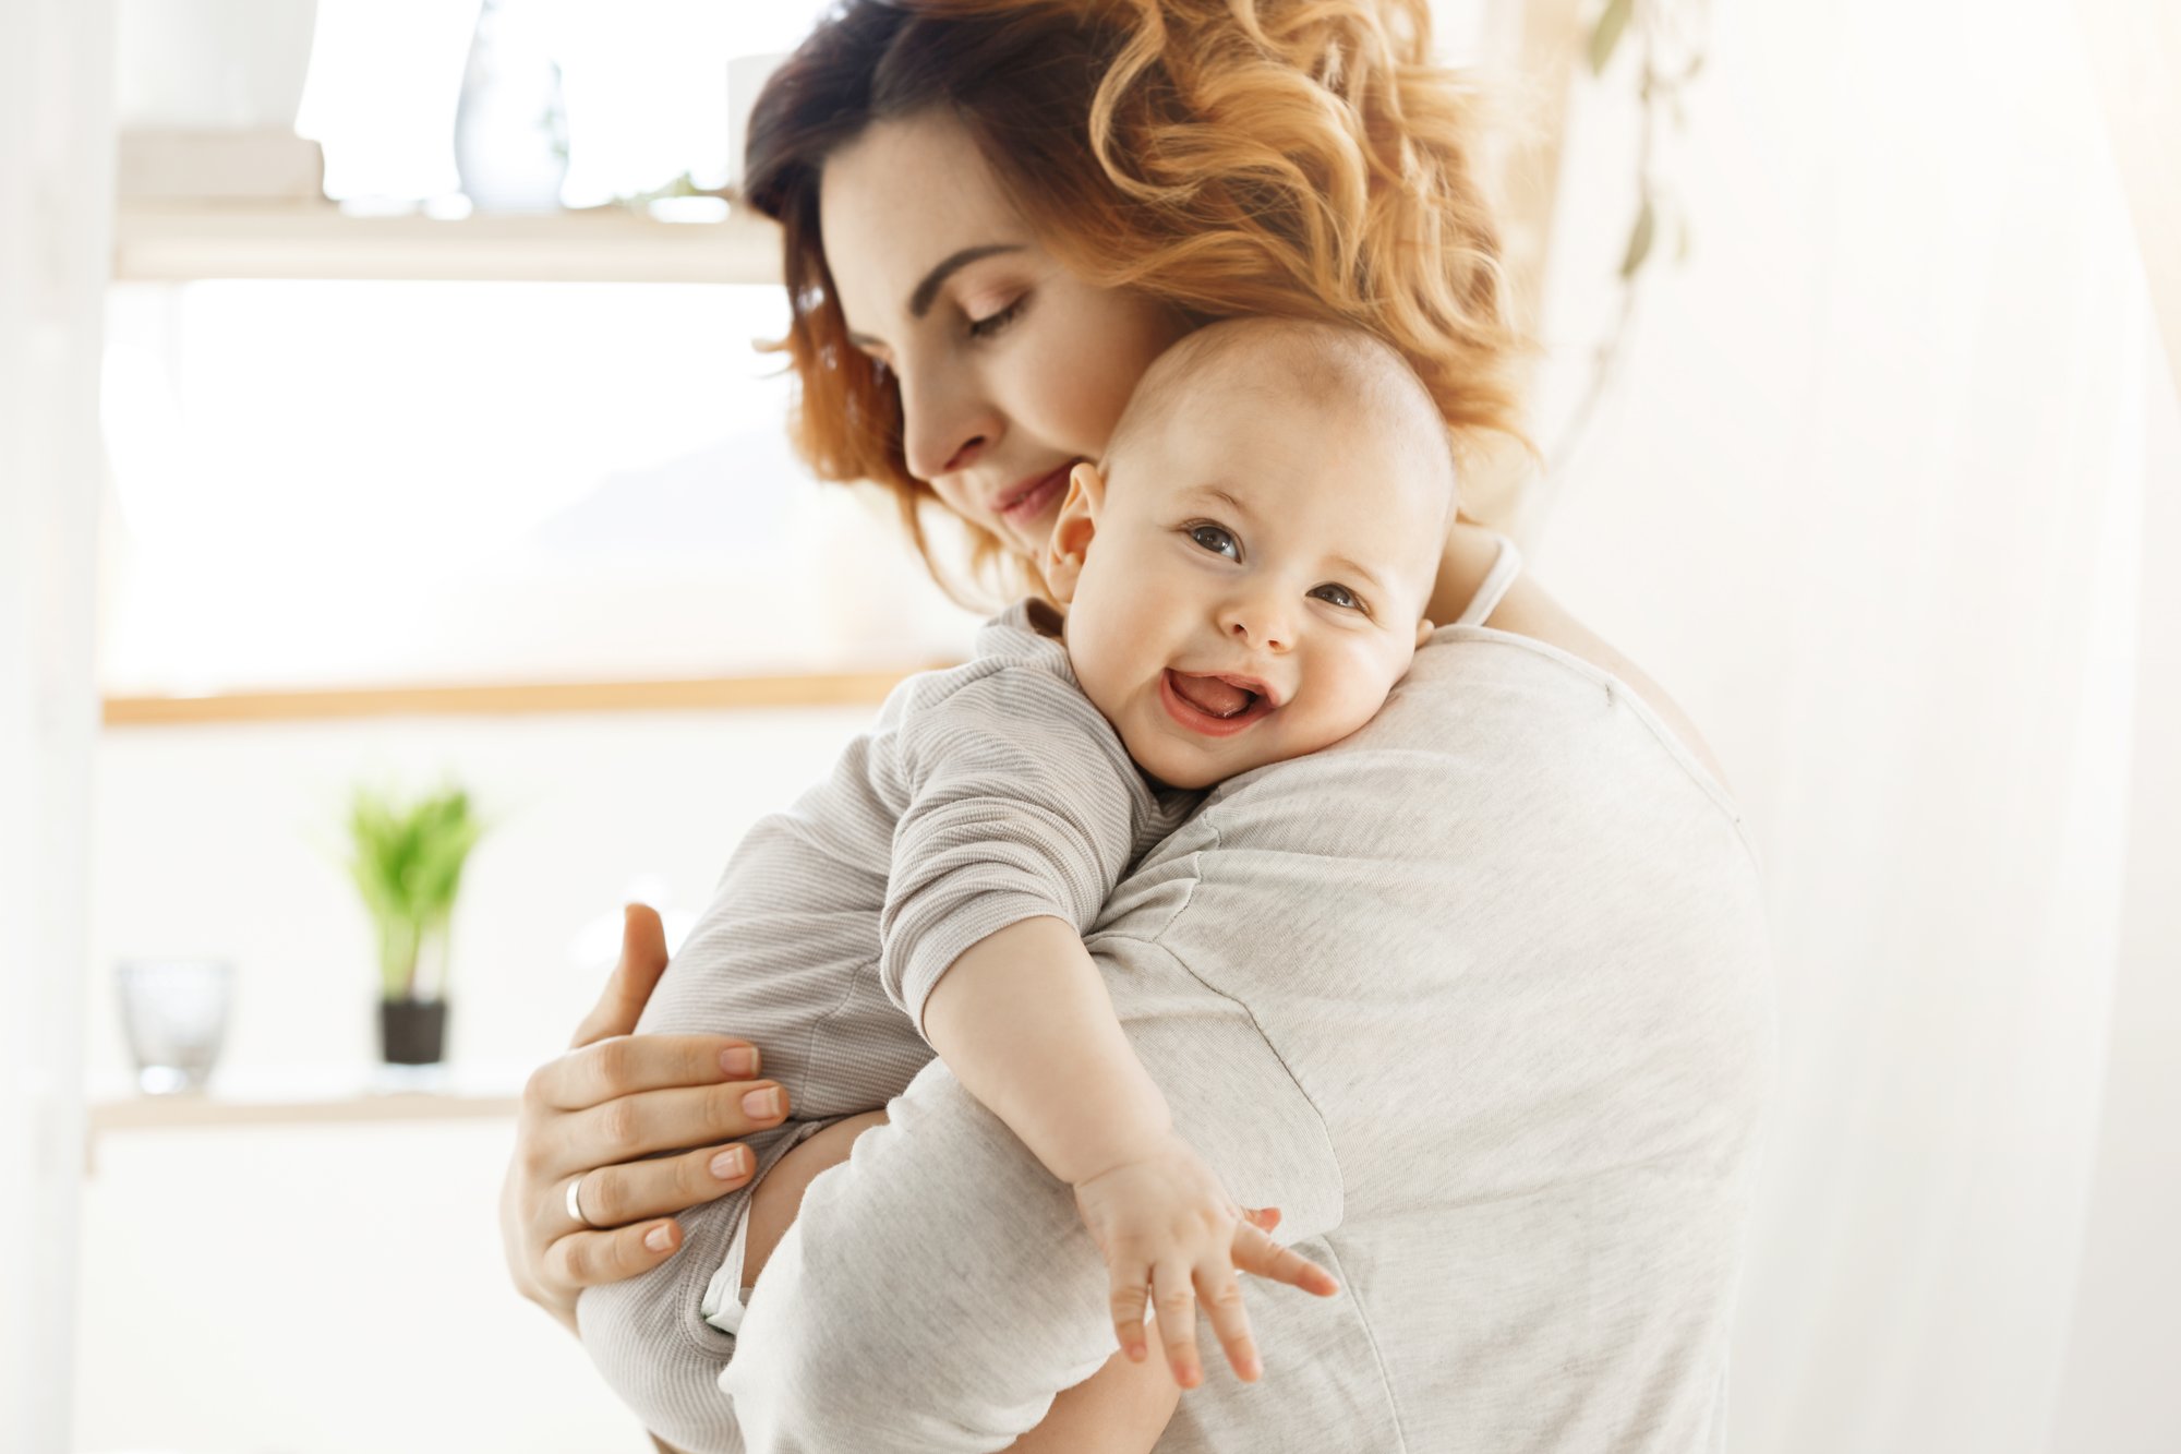
[[[894, 827], [879, 978], [925, 1028], [925, 1002], [979, 939], [1023, 919], [1097, 919], [1134, 851], [1149, 788], [1073, 683], [1003, 666], [903, 714], [907, 806]], [[929, 1039], [929, 1037], [927, 1037]]]

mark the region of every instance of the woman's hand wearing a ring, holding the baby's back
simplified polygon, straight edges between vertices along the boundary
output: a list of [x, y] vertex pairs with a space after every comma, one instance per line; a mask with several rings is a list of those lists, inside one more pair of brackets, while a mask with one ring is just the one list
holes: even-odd
[[[755, 1078], [757, 1046], [731, 1035], [635, 1035], [665, 967], [659, 915], [630, 904], [606, 991], [567, 1054], [539, 1065], [523, 1087], [499, 1188], [499, 1240], [515, 1288], [569, 1332], [578, 1292], [665, 1262], [680, 1247], [674, 1212], [750, 1179], [750, 1151], [722, 1142], [787, 1118], [787, 1089]], [[776, 1092], [774, 1111], [744, 1105], [766, 1089]], [[646, 1159], [661, 1151], [680, 1155]], [[595, 1229], [567, 1214], [578, 1177]]]

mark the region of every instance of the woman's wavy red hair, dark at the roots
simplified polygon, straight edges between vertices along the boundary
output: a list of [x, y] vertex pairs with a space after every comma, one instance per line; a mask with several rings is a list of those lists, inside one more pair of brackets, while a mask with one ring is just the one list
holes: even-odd
[[[1197, 319], [1365, 327], [1415, 369], [1457, 450], [1520, 439], [1483, 107], [1431, 61], [1424, 0], [848, 0], [750, 116], [744, 194], [785, 229], [796, 445], [877, 480], [931, 557], [894, 378], [848, 345], [818, 229], [827, 155], [944, 107], [1040, 242], [1090, 284]], [[1008, 570], [975, 524], [971, 568]], [[1027, 568], [1003, 587], [1036, 589]]]

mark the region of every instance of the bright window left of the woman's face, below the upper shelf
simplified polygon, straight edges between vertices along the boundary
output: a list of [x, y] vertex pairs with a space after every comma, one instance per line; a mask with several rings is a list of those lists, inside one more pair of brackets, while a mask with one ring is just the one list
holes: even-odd
[[779, 288], [116, 284], [109, 694], [894, 668], [975, 618], [794, 458]]

